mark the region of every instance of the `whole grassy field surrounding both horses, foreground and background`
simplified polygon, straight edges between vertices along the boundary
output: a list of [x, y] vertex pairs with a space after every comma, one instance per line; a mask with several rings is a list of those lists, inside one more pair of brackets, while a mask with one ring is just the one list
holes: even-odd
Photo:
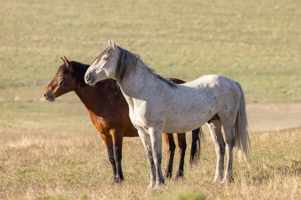
[[[53, 103], [43, 96], [61, 56], [91, 64], [112, 38], [164, 77], [218, 74], [241, 83], [260, 129], [261, 119], [284, 118], [286, 104], [295, 108], [286, 120], [301, 120], [300, 1], [13, 0], [1, 1], [0, 12], [1, 199], [301, 198], [300, 128], [251, 131], [251, 167], [235, 158], [235, 182], [226, 185], [211, 182], [216, 157], [207, 134], [201, 162], [186, 163], [185, 178], [159, 190], [145, 189], [140, 139], [125, 138], [125, 181], [112, 186], [105, 146], [83, 104], [74, 93]], [[276, 114], [262, 115], [259, 105]]]

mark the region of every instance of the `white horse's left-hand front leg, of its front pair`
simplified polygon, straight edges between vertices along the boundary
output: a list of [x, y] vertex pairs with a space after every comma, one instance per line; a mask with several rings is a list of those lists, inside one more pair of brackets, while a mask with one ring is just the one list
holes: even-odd
[[149, 171], [150, 171], [150, 182], [147, 188], [153, 187], [153, 184], [156, 182], [156, 166], [153, 160], [153, 148], [152, 148], [152, 142], [150, 140], [150, 136], [147, 133], [141, 132], [138, 130], [138, 134], [142, 140], [147, 162], [149, 164]]

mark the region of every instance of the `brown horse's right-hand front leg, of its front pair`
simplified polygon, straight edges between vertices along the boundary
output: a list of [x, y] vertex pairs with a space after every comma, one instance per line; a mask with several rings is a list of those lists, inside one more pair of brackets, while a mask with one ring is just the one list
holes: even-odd
[[123, 133], [119, 130], [113, 130], [112, 137], [113, 137], [114, 159], [116, 162], [115, 182], [120, 182], [124, 179], [122, 174], [122, 168], [121, 168]]

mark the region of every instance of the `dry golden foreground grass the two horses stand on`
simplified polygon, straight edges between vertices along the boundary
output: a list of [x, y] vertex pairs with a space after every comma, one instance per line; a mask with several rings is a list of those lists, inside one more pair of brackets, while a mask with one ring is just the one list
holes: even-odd
[[185, 199], [198, 194], [201, 199], [205, 194], [208, 199], [299, 199], [301, 128], [253, 132], [250, 139], [250, 168], [235, 158], [234, 183], [212, 183], [216, 155], [207, 136], [201, 161], [193, 168], [186, 163], [184, 178], [146, 190], [149, 171], [139, 138], [125, 139], [125, 181], [111, 185], [111, 166], [99, 136], [20, 136], [0, 147], [0, 198]]

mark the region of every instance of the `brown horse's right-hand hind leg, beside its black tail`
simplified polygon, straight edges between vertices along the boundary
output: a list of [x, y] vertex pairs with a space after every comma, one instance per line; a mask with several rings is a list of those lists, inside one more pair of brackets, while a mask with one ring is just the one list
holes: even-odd
[[183, 172], [184, 172], [184, 159], [185, 159], [185, 151], [186, 151], [186, 133], [178, 133], [178, 143], [179, 143], [179, 155], [180, 155], [180, 160], [179, 160], [179, 166], [178, 166], [178, 171], [176, 178], [182, 177]]

